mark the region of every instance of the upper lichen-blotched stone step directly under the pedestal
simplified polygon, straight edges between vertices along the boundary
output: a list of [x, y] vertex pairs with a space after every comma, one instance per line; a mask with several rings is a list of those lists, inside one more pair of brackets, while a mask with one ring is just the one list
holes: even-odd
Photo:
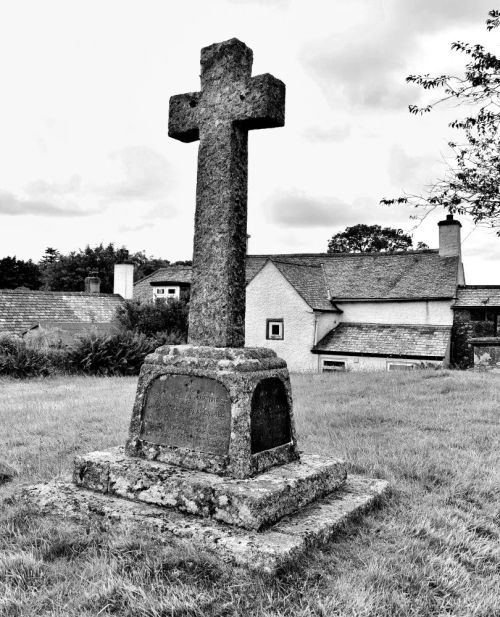
[[300, 461], [234, 479], [127, 456], [123, 448], [75, 459], [81, 487], [230, 525], [259, 530], [335, 491], [346, 479], [339, 459], [302, 454]]

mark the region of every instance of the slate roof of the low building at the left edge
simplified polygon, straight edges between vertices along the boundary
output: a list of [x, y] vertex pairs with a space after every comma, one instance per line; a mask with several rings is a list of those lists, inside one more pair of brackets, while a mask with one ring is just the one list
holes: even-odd
[[123, 298], [118, 294], [0, 290], [0, 334], [23, 334], [38, 324], [108, 324]]

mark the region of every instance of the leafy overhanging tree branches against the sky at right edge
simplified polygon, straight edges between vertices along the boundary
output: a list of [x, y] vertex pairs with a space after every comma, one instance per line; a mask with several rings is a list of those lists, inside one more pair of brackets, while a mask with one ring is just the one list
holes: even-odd
[[[500, 11], [488, 15], [486, 28], [491, 31], [500, 24]], [[443, 207], [451, 214], [469, 215], [476, 225], [497, 229], [500, 235], [500, 58], [482, 45], [458, 41], [451, 48], [469, 58], [464, 75], [410, 75], [407, 82], [425, 90], [440, 88], [443, 96], [424, 107], [410, 105], [409, 111], [424, 114], [450, 101], [470, 106], [470, 115], [449, 125], [463, 131], [464, 140], [449, 142], [452, 155], [448, 168], [425, 195], [384, 198], [381, 203], [422, 207], [423, 217]]]

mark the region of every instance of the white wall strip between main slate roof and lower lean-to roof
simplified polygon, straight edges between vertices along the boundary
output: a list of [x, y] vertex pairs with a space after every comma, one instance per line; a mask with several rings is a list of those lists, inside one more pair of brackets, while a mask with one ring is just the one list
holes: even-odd
[[420, 302], [337, 302], [345, 323], [388, 323], [430, 326], [453, 324], [452, 300]]

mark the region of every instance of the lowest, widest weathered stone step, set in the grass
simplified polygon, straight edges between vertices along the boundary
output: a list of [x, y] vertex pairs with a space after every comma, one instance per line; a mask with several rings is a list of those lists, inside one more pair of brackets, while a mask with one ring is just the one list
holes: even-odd
[[370, 508], [387, 486], [385, 480], [349, 476], [343, 489], [261, 532], [93, 493], [69, 482], [26, 488], [22, 499], [42, 514], [68, 517], [82, 524], [97, 520], [103, 531], [112, 533], [139, 529], [154, 534], [159, 541], [183, 539], [223, 561], [273, 573], [312, 546], [332, 539], [349, 518]]

